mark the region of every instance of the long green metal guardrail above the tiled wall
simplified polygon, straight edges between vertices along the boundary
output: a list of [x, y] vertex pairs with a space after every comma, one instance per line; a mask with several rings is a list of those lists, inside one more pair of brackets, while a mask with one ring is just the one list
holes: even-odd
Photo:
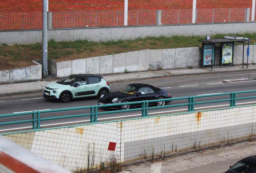
[[[129, 111], [141, 111], [142, 117], [147, 117], [149, 109], [159, 109], [159, 108], [166, 108], [166, 107], [188, 106], [188, 112], [191, 112], [191, 111], [194, 111], [194, 105], [205, 104], [205, 103], [225, 102], [225, 101], [229, 101], [230, 102], [230, 105], [229, 105], [230, 107], [235, 107], [236, 100], [254, 99], [254, 98], [256, 98], [256, 96], [237, 98], [237, 94], [255, 93], [255, 92], [256, 92], [256, 90], [230, 92], [230, 93], [219, 93], [219, 94], [211, 94], [211, 95], [200, 95], [200, 96], [178, 97], [178, 98], [171, 98], [171, 99], [161, 99], [161, 101], [174, 101], [174, 100], [188, 99], [188, 103], [165, 105], [165, 106], [161, 106], [161, 107], [149, 107], [149, 103], [157, 102], [159, 100], [129, 102], [129, 105], [141, 104], [142, 106], [141, 106], [141, 108], [128, 109], [128, 110], [116, 110], [116, 111], [98, 112], [98, 108], [109, 107], [109, 105], [91, 105], [91, 106], [86, 106], [86, 107], [53, 109], [53, 110], [44, 110], [44, 111], [30, 111], [30, 112], [25, 112], [25, 113], [12, 113], [12, 114], [0, 115], [0, 118], [2, 118], [2, 117], [20, 116], [20, 115], [32, 115], [32, 119], [21, 120], [21, 121], [1, 122], [0, 125], [10, 125], [10, 124], [32, 122], [32, 128], [33, 129], [40, 129], [40, 121], [47, 121], [47, 120], [54, 120], [54, 119], [64, 119], [64, 118], [72, 118], [72, 117], [90, 116], [91, 123], [95, 123], [95, 122], [97, 122], [97, 115], [110, 114], [110, 113], [122, 113], [122, 112], [129, 112]], [[223, 96], [223, 95], [230, 95], [230, 98], [229, 99], [221, 99], [221, 100], [209, 100], [209, 101], [195, 102], [196, 98]], [[115, 103], [115, 104], [111, 104], [111, 105], [113, 105], [113, 106], [120, 106], [120, 105], [127, 105], [127, 103]], [[40, 115], [42, 113], [52, 113], [52, 112], [59, 112], [59, 111], [72, 111], [72, 110], [78, 110], [78, 109], [90, 109], [90, 113], [77, 114], [77, 115], [64, 115], [64, 116], [59, 116], [59, 117], [40, 118]]]

